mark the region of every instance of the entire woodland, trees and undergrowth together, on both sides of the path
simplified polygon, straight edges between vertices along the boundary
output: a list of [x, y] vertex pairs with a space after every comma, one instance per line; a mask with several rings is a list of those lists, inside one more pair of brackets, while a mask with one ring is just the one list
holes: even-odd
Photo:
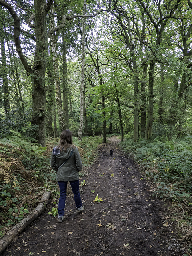
[[192, 222], [191, 0], [0, 0], [0, 237], [42, 191], [58, 197], [64, 129], [84, 168], [119, 136]]

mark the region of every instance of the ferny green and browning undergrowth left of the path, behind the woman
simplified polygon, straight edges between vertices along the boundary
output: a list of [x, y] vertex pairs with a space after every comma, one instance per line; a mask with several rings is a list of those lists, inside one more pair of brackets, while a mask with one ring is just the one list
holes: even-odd
[[[52, 148], [58, 141], [48, 138], [43, 148], [14, 131], [0, 139], [0, 237], [37, 206], [44, 191], [58, 197], [56, 172], [50, 168]], [[84, 137], [81, 142], [74, 138], [83, 162], [80, 179], [96, 158], [100, 143], [101, 137]]]

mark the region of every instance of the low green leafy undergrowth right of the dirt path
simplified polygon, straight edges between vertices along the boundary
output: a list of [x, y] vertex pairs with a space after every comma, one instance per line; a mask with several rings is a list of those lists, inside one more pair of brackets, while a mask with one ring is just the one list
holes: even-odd
[[168, 140], [166, 136], [153, 141], [127, 138], [121, 142], [125, 152], [143, 166], [148, 178], [156, 183], [154, 196], [192, 205], [192, 137]]

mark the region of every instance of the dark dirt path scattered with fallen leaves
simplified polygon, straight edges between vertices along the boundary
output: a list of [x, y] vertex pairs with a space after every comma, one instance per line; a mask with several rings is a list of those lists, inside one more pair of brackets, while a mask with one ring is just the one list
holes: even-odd
[[[164, 206], [150, 197], [150, 187], [141, 178], [137, 166], [111, 138], [100, 146], [99, 158], [83, 178], [84, 213], [74, 214], [74, 199], [68, 196], [67, 218], [57, 223], [48, 214], [54, 207], [49, 205], [2, 256], [180, 255], [168, 250], [171, 227], [163, 226]], [[97, 195], [102, 202], [93, 202]]]

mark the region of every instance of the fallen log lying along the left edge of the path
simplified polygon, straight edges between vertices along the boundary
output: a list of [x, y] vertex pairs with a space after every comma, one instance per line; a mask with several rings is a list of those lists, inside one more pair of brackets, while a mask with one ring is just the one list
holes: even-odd
[[18, 236], [29, 224], [31, 224], [38, 216], [43, 212], [46, 207], [46, 203], [50, 198], [50, 192], [44, 192], [40, 203], [38, 206], [32, 211], [31, 214], [27, 215], [25, 218], [21, 220], [21, 222], [17, 223], [14, 227], [12, 227], [9, 232], [3, 236], [0, 240], [0, 254], [6, 249], [6, 247]]

